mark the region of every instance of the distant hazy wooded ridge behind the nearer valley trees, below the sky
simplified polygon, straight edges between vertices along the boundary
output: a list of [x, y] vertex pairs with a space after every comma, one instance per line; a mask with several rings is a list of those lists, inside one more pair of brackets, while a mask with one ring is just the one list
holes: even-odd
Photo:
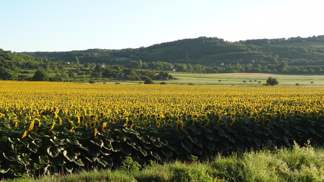
[[235, 65], [254, 64], [261, 66], [285, 61], [288, 65], [323, 65], [324, 35], [308, 38], [258, 39], [229, 42], [219, 38], [199, 37], [154, 44], [137, 49], [88, 49], [66, 52], [23, 52], [53, 61], [94, 62], [125, 64], [132, 60], [143, 62], [190, 63], [219, 66], [221, 63]]

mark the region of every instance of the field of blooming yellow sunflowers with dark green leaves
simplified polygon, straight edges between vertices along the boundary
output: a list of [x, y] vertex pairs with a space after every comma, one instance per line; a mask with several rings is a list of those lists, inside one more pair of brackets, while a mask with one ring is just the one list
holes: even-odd
[[324, 143], [324, 87], [0, 82], [0, 177]]

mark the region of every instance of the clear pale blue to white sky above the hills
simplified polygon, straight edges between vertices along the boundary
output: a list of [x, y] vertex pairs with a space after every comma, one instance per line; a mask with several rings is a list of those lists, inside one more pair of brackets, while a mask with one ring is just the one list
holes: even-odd
[[123, 49], [324, 35], [323, 0], [0, 0], [0, 48]]

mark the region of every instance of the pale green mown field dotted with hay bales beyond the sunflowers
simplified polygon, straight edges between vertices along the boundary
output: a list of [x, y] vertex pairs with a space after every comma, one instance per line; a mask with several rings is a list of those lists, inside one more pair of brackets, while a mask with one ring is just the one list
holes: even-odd
[[[324, 75], [293, 75], [293, 74], [260, 74], [260, 73], [226, 73], [226, 74], [184, 74], [170, 73], [179, 80], [164, 81], [168, 84], [197, 85], [263, 85], [269, 76], [277, 78], [279, 85], [312, 85], [324, 86]], [[219, 82], [221, 80], [221, 82]], [[244, 83], [243, 80], [247, 82]], [[252, 82], [249, 82], [252, 80]], [[256, 82], [254, 80], [257, 80]], [[258, 83], [261, 81], [261, 83]], [[129, 81], [135, 82], [135, 81]], [[138, 83], [139, 81], [137, 81]], [[142, 81], [143, 82], [143, 81]], [[160, 83], [162, 81], [154, 81]], [[311, 84], [310, 82], [314, 82]]]

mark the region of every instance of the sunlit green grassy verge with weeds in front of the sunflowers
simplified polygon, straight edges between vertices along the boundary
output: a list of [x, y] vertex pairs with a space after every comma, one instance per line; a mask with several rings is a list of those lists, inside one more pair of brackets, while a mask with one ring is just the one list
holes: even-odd
[[[194, 158], [193, 158], [194, 159]], [[182, 164], [181, 164], [182, 162]], [[175, 161], [170, 164], [140, 167], [132, 161], [119, 170], [80, 171], [76, 174], [39, 178], [6, 179], [4, 182], [75, 182], [75, 181], [211, 181], [211, 182], [281, 182], [324, 181], [324, 150], [297, 144], [292, 149], [264, 149], [244, 154], [218, 155], [212, 161]]]

